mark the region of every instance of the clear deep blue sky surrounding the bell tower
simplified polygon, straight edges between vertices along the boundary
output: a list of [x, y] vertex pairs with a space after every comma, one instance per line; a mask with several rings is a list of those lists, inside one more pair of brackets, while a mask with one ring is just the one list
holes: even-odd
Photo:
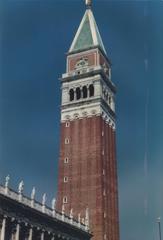
[[[163, 1], [95, 1], [118, 92], [122, 240], [157, 240], [163, 217]], [[56, 193], [60, 82], [82, 0], [0, 2], [0, 182]]]

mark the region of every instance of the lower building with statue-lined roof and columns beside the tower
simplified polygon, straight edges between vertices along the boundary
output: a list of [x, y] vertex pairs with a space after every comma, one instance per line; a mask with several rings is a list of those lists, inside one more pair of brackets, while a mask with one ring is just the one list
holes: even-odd
[[35, 200], [35, 189], [31, 197], [23, 195], [23, 182], [18, 192], [0, 185], [0, 240], [89, 240], [88, 226], [52, 207], [46, 206], [46, 195], [42, 202]]

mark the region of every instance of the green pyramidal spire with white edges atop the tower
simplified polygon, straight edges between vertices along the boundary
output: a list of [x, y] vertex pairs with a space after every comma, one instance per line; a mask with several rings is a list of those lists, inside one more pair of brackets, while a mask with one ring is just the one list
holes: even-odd
[[91, 8], [88, 8], [69, 49], [69, 53], [82, 51], [96, 46], [100, 47], [106, 54], [92, 10]]

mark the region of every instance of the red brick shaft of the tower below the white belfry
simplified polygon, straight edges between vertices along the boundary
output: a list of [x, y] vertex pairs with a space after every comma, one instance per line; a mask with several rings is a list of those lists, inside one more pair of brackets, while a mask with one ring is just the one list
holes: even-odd
[[[70, 140], [67, 145], [65, 138]], [[94, 240], [104, 239], [104, 234], [106, 239], [118, 240], [115, 132], [101, 117], [76, 119], [69, 127], [61, 123], [60, 144], [57, 209], [61, 210], [63, 197], [67, 196], [67, 214], [72, 208], [76, 218], [78, 213], [83, 218], [89, 208]], [[64, 163], [65, 157], [69, 158], [68, 164]], [[63, 181], [65, 176], [69, 178], [67, 183]]]

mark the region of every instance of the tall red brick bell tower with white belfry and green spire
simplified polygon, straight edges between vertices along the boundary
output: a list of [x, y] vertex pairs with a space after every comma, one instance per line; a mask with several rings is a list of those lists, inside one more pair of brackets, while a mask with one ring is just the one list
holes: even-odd
[[93, 240], [119, 240], [116, 87], [91, 0], [86, 7], [61, 78], [57, 209], [81, 221], [88, 209]]

